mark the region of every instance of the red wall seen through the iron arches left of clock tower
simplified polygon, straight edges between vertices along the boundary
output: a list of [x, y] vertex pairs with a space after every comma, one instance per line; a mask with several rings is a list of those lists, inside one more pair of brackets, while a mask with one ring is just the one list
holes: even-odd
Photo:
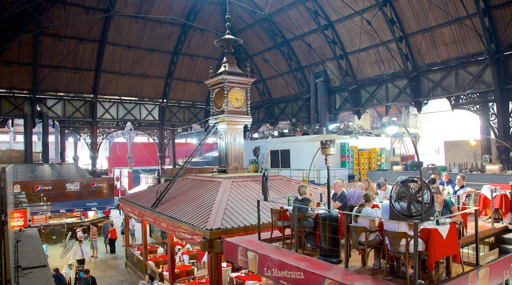
[[[203, 146], [203, 153], [210, 152], [217, 144], [207, 143]], [[192, 143], [176, 143], [176, 158], [187, 158], [196, 148]], [[168, 148], [167, 158], [172, 158], [172, 150]], [[110, 156], [106, 157], [108, 168], [128, 167], [128, 145], [125, 142], [114, 141], [110, 148]], [[158, 151], [155, 143], [133, 143], [133, 167], [158, 167]]]

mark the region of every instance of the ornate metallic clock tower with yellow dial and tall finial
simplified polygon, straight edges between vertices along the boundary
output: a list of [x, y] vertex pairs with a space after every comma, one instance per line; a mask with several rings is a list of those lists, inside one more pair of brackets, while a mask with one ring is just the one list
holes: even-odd
[[[244, 126], [252, 123], [250, 113], [250, 87], [254, 78], [238, 68], [237, 61], [231, 55], [233, 47], [243, 41], [231, 35], [229, 22], [231, 16], [226, 13], [226, 35], [215, 41], [223, 47], [226, 56], [221, 68], [204, 83], [210, 89], [211, 116], [208, 124], [217, 125], [219, 146], [219, 170], [226, 173], [245, 172]], [[248, 68], [247, 68], [248, 69]]]

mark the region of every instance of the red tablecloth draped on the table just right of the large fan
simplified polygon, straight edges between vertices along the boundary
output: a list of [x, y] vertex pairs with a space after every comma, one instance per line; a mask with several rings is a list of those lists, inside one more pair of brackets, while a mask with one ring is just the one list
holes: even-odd
[[450, 223], [446, 239], [443, 239], [442, 234], [437, 228], [421, 228], [419, 234], [419, 237], [426, 244], [426, 268], [430, 271], [434, 271], [434, 263], [445, 256], [451, 255], [453, 261], [460, 264], [459, 238], [454, 223]]

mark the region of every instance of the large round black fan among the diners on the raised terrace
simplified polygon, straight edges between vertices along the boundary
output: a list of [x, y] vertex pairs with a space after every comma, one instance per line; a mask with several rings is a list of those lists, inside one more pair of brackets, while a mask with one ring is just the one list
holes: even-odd
[[434, 217], [434, 195], [425, 181], [404, 177], [396, 181], [389, 196], [389, 218], [395, 221], [429, 221]]

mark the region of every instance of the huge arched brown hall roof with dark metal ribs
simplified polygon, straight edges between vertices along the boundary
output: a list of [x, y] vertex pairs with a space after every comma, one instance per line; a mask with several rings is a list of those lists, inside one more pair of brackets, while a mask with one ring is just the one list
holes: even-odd
[[[421, 81], [418, 74], [470, 62], [474, 65], [464, 66], [462, 76], [480, 83], [461, 84], [458, 90], [432, 87], [419, 97], [485, 90], [490, 88], [485, 80], [490, 75], [479, 62], [512, 50], [512, 1], [506, 0], [228, 4], [230, 30], [244, 40], [234, 56], [258, 79], [251, 90], [255, 112], [280, 100], [304, 100], [310, 69], [326, 69], [333, 90], [345, 94], [335, 100], [331, 112], [407, 104], [418, 99], [411, 90]], [[210, 69], [219, 69], [224, 56], [214, 40], [226, 32], [225, 0], [9, 0], [3, 6], [4, 94], [178, 102], [204, 109], [209, 104], [203, 81]], [[428, 78], [437, 86], [442, 85], [441, 76]], [[391, 90], [372, 99], [375, 84], [389, 79]], [[359, 86], [363, 87], [352, 94]], [[383, 99], [385, 92], [391, 98]], [[298, 112], [286, 116], [304, 115]]]

